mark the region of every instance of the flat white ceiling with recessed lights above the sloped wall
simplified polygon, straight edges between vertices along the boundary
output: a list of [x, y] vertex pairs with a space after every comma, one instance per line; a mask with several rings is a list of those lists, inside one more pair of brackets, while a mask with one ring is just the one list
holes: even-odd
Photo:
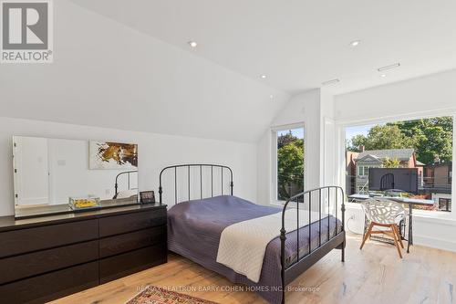
[[72, 1], [176, 47], [194, 39], [198, 56], [266, 74], [290, 94], [331, 79], [340, 82], [325, 90], [342, 94], [456, 68], [451, 0]]

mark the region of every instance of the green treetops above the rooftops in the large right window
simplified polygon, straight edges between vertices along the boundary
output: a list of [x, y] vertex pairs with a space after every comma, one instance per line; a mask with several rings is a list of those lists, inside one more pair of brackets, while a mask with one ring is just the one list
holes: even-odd
[[347, 142], [347, 150], [359, 152], [360, 146], [366, 150], [414, 148], [420, 162], [432, 163], [452, 160], [452, 117], [401, 121], [376, 125], [368, 131], [368, 136], [357, 135]]

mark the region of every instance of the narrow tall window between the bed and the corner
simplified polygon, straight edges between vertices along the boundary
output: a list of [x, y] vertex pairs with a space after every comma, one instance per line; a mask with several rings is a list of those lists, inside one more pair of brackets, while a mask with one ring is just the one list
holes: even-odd
[[304, 191], [304, 127], [275, 131], [275, 197], [286, 201]]

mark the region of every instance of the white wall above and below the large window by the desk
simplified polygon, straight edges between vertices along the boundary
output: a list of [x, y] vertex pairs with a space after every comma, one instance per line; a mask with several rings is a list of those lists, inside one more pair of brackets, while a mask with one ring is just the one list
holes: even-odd
[[[372, 89], [364, 89], [335, 97], [335, 120], [337, 131], [347, 125], [398, 121], [454, 115], [456, 113], [456, 70], [410, 79]], [[456, 140], [456, 132], [454, 134]], [[456, 142], [453, 140], [453, 142]], [[345, 162], [340, 157], [344, 151], [344, 138], [339, 138], [335, 157], [340, 169], [338, 177], [345, 171]], [[456, 158], [453, 145], [453, 164]], [[453, 168], [454, 171], [454, 168]], [[344, 179], [341, 179], [344, 181]], [[456, 193], [453, 183], [453, 204]], [[362, 213], [356, 206], [347, 210], [348, 222], [356, 232], [362, 226]], [[414, 212], [415, 243], [425, 246], [456, 251], [456, 212]]]

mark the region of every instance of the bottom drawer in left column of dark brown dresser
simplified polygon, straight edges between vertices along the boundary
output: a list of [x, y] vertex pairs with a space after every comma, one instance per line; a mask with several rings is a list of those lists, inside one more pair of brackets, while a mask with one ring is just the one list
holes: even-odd
[[0, 286], [2, 303], [44, 303], [98, 285], [98, 262]]

